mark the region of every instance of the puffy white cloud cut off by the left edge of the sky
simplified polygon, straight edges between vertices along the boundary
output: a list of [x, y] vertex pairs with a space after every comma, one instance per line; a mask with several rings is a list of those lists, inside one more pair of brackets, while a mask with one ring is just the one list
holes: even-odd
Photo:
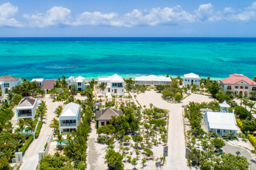
[[18, 7], [3, 3], [0, 6], [0, 27], [21, 27], [22, 25], [12, 17], [17, 11]]

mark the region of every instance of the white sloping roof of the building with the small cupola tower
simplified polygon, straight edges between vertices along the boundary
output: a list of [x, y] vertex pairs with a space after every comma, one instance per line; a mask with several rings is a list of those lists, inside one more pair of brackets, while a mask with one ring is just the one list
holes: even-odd
[[207, 122], [211, 129], [237, 130], [234, 113], [206, 112]]

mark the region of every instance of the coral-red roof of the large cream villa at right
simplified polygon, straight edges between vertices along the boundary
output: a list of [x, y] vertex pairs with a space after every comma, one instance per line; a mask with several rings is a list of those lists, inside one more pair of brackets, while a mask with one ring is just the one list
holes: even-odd
[[249, 85], [256, 85], [256, 82], [254, 82], [252, 79], [242, 75], [242, 74], [230, 74], [229, 77], [225, 79], [221, 79], [221, 82], [223, 84], [236, 84], [237, 82], [244, 81], [247, 82]]

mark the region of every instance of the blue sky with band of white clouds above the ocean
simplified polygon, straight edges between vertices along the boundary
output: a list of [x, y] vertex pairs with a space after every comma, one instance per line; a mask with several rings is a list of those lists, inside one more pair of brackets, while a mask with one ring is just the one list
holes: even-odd
[[0, 0], [0, 37], [256, 37], [256, 1]]

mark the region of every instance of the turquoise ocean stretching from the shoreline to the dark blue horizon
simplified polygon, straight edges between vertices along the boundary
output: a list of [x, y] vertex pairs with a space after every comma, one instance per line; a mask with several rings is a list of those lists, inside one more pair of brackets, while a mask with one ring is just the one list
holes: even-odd
[[0, 75], [31, 80], [190, 72], [212, 79], [234, 73], [253, 78], [256, 38], [0, 38]]

